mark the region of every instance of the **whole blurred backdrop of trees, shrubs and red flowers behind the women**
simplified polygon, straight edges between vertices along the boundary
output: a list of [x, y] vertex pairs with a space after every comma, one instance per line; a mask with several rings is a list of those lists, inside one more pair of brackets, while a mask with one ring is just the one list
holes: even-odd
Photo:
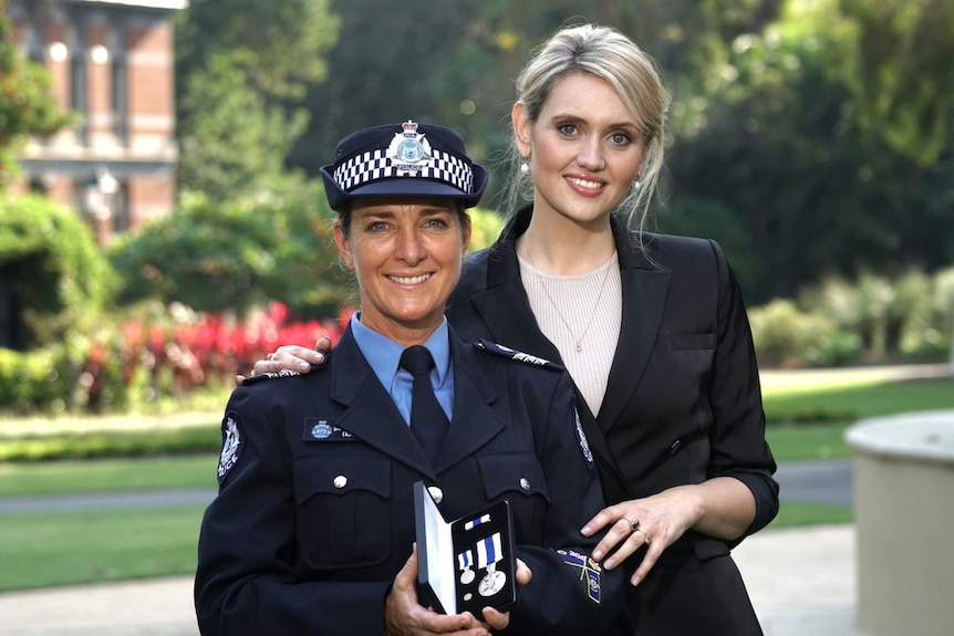
[[[473, 247], [489, 244], [514, 77], [583, 21], [616, 27], [659, 62], [674, 101], [652, 222], [723, 244], [761, 364], [944, 359], [954, 2], [191, 0], [176, 17], [178, 208], [103, 253], [62, 210], [2, 201], [0, 272], [33, 296], [29, 351], [0, 351], [0, 387], [24, 373], [46, 384], [0, 392], [0, 409], [134, 408], [227, 386], [291, 342], [276, 333], [310, 345], [338, 329], [353, 290], [317, 177], [354, 129], [413, 118], [460, 131], [494, 170], [473, 215]], [[0, 177], [25, 135], [69, 122], [43, 70], [11, 51], [3, 31]], [[318, 331], [292, 334], [309, 324]]]

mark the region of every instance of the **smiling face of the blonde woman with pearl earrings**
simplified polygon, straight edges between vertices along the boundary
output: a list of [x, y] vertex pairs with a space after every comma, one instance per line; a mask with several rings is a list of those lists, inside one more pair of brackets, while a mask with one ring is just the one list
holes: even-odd
[[604, 223], [629, 194], [644, 158], [642, 134], [613, 87], [589, 73], [553, 83], [539, 117], [512, 112], [522, 156], [533, 171], [533, 216]]

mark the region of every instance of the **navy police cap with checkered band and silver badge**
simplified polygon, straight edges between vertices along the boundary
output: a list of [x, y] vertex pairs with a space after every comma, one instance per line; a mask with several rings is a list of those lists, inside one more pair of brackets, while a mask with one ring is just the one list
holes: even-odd
[[467, 156], [460, 135], [412, 121], [353, 133], [339, 142], [334, 157], [321, 178], [338, 211], [356, 197], [443, 197], [471, 208], [490, 177]]

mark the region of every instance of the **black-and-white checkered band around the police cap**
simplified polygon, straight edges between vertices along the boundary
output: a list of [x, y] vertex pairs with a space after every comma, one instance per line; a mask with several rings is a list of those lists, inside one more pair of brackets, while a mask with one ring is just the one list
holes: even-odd
[[416, 177], [449, 184], [462, 192], [474, 191], [474, 170], [466, 163], [440, 150], [433, 150], [426, 165], [398, 164], [385, 156], [386, 150], [371, 150], [352, 157], [334, 170], [334, 180], [345, 192], [359, 186], [391, 177]]

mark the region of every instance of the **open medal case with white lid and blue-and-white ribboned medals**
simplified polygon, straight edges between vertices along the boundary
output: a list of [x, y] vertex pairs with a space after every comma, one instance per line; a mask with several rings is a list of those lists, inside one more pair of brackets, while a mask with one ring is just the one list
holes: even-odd
[[517, 599], [510, 505], [499, 501], [447, 522], [423, 482], [414, 484], [418, 599], [436, 612], [506, 611]]

